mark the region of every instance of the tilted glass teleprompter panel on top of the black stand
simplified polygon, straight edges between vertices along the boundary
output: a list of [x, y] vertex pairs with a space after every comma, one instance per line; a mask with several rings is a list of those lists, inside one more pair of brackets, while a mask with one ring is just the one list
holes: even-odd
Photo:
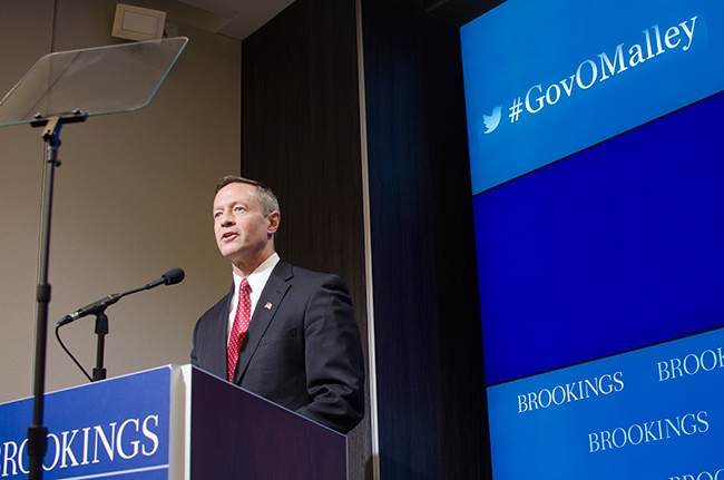
[[74, 111], [138, 110], [151, 100], [187, 42], [177, 37], [46, 55], [0, 102], [0, 126]]

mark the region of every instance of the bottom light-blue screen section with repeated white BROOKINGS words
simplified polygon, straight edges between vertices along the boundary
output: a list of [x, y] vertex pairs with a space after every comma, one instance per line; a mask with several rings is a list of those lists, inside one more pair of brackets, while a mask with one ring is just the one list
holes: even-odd
[[724, 479], [724, 329], [488, 389], [496, 480]]

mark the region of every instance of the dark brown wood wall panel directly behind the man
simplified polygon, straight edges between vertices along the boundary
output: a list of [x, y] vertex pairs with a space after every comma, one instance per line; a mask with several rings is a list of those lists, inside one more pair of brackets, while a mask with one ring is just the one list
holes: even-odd
[[[280, 197], [280, 255], [346, 281], [366, 352], [355, 21], [354, 0], [297, 0], [244, 40], [242, 175]], [[349, 439], [371, 479], [369, 415]]]

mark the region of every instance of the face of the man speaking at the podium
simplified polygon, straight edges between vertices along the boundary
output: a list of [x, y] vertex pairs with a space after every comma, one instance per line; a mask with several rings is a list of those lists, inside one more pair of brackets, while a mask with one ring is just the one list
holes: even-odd
[[[214, 198], [214, 236], [218, 251], [237, 267], [253, 267], [274, 252], [278, 213], [264, 216], [254, 185], [232, 183]], [[251, 273], [251, 272], [250, 272]]]

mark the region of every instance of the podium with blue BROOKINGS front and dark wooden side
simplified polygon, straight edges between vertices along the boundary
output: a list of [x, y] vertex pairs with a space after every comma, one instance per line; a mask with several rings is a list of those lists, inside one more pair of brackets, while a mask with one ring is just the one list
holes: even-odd
[[[27, 478], [32, 399], [0, 405], [0, 478]], [[46, 395], [47, 479], [344, 480], [346, 437], [192, 365]]]

